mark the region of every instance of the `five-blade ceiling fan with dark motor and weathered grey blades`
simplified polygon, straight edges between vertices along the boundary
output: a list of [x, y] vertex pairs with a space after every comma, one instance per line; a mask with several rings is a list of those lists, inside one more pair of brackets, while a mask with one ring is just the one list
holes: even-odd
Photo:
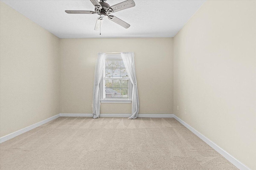
[[[135, 3], [133, 0], [126, 0], [124, 2], [121, 2], [119, 4], [110, 6], [108, 3], [106, 3], [106, 0], [90, 0], [92, 4], [95, 6], [94, 11], [72, 11], [72, 10], [66, 10], [65, 12], [68, 14], [98, 14], [100, 17], [97, 18], [96, 25], [94, 30], [101, 29], [102, 22], [104, 20], [105, 16], [108, 16], [108, 19], [121, 25], [124, 28], [129, 28], [130, 24], [126, 23], [123, 20], [120, 20], [116, 16], [110, 15], [114, 12], [118, 12], [121, 10], [125, 10], [127, 8], [131, 8], [135, 6]], [[101, 33], [100, 33], [101, 34]]]

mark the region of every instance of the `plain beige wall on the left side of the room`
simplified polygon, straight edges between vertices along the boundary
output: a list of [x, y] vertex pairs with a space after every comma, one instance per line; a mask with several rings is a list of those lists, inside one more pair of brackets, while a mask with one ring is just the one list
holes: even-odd
[[59, 38], [0, 2], [0, 136], [59, 113]]

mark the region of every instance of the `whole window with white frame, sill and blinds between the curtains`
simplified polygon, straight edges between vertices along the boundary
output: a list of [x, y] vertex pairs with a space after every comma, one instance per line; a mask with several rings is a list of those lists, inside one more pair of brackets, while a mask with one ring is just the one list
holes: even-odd
[[100, 86], [100, 101], [102, 103], [131, 102], [132, 84], [121, 54], [106, 54]]

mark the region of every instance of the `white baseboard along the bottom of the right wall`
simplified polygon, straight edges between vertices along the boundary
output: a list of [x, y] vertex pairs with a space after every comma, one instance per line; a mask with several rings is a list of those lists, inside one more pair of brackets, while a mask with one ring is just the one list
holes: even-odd
[[202, 139], [205, 143], [207, 143], [210, 147], [212, 147], [214, 150], [216, 150], [219, 154], [221, 154], [224, 158], [226, 158], [229, 162], [231, 162], [234, 166], [236, 166], [240, 170], [250, 170], [246, 165], [242, 164], [242, 162], [239, 162], [236, 158], [231, 156], [228, 152], [223, 150], [221, 147], [216, 145], [214, 142], [212, 142], [210, 139], [202, 135], [200, 132], [198, 132], [196, 129], [188, 125], [186, 122], [184, 122], [182, 119], [178, 118], [176, 115], [173, 115], [174, 119], [176, 119], [178, 122], [180, 122], [182, 125], [184, 125], [186, 128], [188, 128], [190, 131], [192, 131], [196, 136], [198, 136], [200, 139]]

